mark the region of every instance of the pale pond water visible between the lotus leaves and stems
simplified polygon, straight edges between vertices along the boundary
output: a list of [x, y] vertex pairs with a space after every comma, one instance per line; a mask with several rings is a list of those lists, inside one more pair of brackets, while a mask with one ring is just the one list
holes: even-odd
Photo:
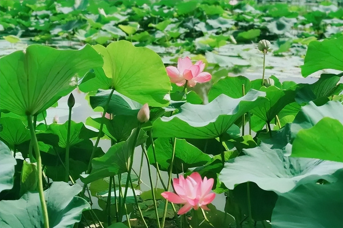
[[[17, 50], [24, 50], [29, 44], [33, 44], [34, 42], [29, 41], [28, 39], [21, 39], [20, 42], [16, 44], [11, 44], [8, 41], [0, 40], [0, 56], [10, 54], [11, 52]], [[49, 43], [50, 46], [59, 48], [59, 49], [78, 49], [82, 44], [76, 41], [63, 41], [63, 40], [56, 40], [52, 43]], [[164, 63], [169, 64], [171, 58], [175, 58], [175, 56], [166, 56], [165, 48], [161, 48], [160, 46], [150, 46], [149, 48], [153, 49], [155, 52], [162, 56]], [[276, 46], [271, 47], [275, 49]], [[171, 50], [168, 50], [170, 52]], [[336, 73], [338, 71], [335, 70], [322, 70], [319, 72], [314, 73], [307, 78], [303, 78], [300, 73], [300, 65], [303, 65], [304, 60], [303, 58], [299, 57], [298, 55], [293, 55], [292, 52], [299, 50], [291, 50], [291, 52], [287, 53], [285, 56], [273, 56], [272, 54], [268, 54], [266, 58], [266, 69], [265, 69], [265, 76], [268, 78], [271, 75], [276, 76], [281, 82], [283, 81], [294, 81], [296, 83], [314, 83], [318, 80], [320, 73]], [[159, 53], [161, 52], [161, 53]], [[306, 53], [306, 49], [300, 50], [303, 55]], [[190, 57], [194, 55], [189, 55]], [[263, 64], [263, 55], [257, 50], [256, 44], [227, 44], [219, 49], [213, 51], [210, 54], [206, 54], [206, 59], [210, 61], [216, 61], [220, 57], [222, 66], [227, 65], [227, 67], [232, 67], [233, 65], [236, 66], [244, 66], [241, 68], [239, 73], [229, 73], [229, 76], [237, 76], [243, 75], [250, 80], [254, 80], [257, 78], [261, 78], [262, 75], [262, 64]], [[184, 57], [184, 56], [182, 56]], [[211, 72], [211, 69], [208, 69]], [[342, 79], [341, 79], [341, 82]], [[194, 90], [201, 94], [204, 98], [204, 103], [207, 103], [207, 91], [209, 89], [208, 85], [200, 85], [196, 86]], [[85, 123], [88, 117], [98, 118], [101, 116], [100, 112], [94, 112], [93, 109], [88, 104], [87, 100], [85, 99], [86, 94], [80, 92], [79, 90], [74, 90], [73, 95], [75, 97], [75, 106], [72, 109], [72, 120], [75, 122], [83, 122]], [[68, 121], [68, 105], [67, 100], [68, 96], [62, 97], [58, 101], [58, 107], [56, 108], [49, 108], [47, 110], [47, 117], [46, 121], [47, 124], [51, 124], [52, 120], [55, 116], [59, 117], [59, 123], [64, 123]], [[88, 126], [87, 126], [88, 127]], [[89, 127], [90, 129], [97, 131]], [[94, 142], [94, 140], [93, 140]], [[107, 151], [110, 147], [110, 140], [100, 140], [99, 146], [102, 147], [104, 151]], [[141, 161], [141, 148], [136, 148], [134, 154], [134, 162], [133, 162], [133, 170], [136, 173], [139, 173], [140, 170], [140, 161]], [[152, 170], [152, 179], [154, 185], [156, 184], [156, 169], [151, 165]], [[167, 180], [168, 175], [167, 172], [161, 171], [162, 177], [164, 180]], [[175, 176], [176, 177], [176, 176]], [[143, 160], [143, 168], [142, 168], [142, 184], [141, 190], [146, 191], [150, 190], [149, 185], [149, 176], [147, 175], [147, 164], [144, 158]], [[80, 181], [78, 181], [82, 185]], [[162, 188], [161, 183], [157, 182], [157, 188]], [[129, 192], [130, 194], [130, 192]], [[114, 195], [114, 194], [113, 194]], [[96, 197], [92, 197], [93, 201], [93, 208], [100, 209]], [[217, 195], [213, 201], [213, 204], [217, 207], [218, 210], [224, 211], [225, 206], [225, 196], [223, 194]]]

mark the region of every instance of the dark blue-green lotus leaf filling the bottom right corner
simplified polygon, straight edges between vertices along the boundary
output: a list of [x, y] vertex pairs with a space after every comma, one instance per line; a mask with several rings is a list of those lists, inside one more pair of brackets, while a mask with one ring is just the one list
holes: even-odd
[[279, 195], [272, 215], [272, 227], [343, 227], [342, 169], [332, 183], [306, 183]]

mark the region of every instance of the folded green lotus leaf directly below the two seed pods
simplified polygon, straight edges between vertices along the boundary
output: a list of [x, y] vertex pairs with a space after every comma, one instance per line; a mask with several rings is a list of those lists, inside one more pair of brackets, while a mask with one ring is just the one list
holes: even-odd
[[286, 105], [295, 101], [296, 86], [289, 90], [281, 90], [275, 86], [262, 87], [266, 92], [269, 102], [259, 105], [251, 110], [251, 113], [269, 123]]

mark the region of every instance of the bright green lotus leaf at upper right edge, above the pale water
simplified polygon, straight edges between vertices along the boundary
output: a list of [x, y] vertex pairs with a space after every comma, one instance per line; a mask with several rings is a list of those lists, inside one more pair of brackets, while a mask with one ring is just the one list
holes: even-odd
[[300, 67], [303, 77], [322, 69], [343, 71], [343, 36], [337, 39], [310, 42], [304, 65]]

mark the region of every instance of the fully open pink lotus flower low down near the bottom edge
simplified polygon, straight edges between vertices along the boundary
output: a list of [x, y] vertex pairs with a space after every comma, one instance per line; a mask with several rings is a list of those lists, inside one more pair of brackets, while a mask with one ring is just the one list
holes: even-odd
[[172, 203], [185, 204], [177, 212], [182, 215], [190, 211], [192, 208], [198, 210], [201, 207], [203, 210], [210, 210], [206, 205], [214, 200], [215, 193], [210, 193], [214, 179], [202, 180], [199, 173], [194, 172], [186, 179], [180, 176], [179, 179], [174, 178], [173, 186], [175, 192], [165, 191], [161, 195]]

